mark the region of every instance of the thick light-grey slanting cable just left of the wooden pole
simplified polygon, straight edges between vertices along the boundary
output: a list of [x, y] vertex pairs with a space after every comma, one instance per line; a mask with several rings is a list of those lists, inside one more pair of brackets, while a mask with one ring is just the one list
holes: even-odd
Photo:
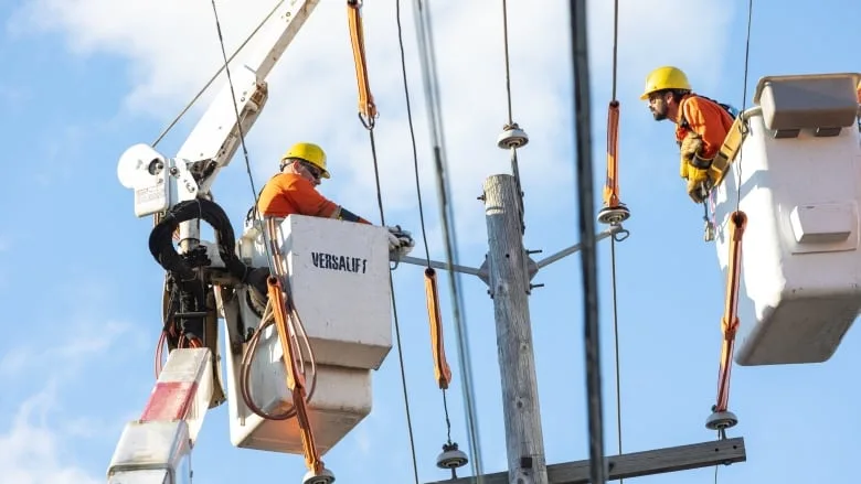
[[447, 266], [451, 269], [448, 278], [449, 292], [453, 303], [454, 324], [457, 340], [457, 353], [460, 366], [460, 388], [464, 395], [464, 407], [467, 424], [467, 437], [472, 454], [472, 473], [479, 484], [482, 482], [482, 458], [479, 443], [478, 416], [476, 411], [475, 394], [472, 386], [472, 364], [469, 357], [469, 337], [466, 331], [463, 308], [464, 295], [460, 291], [459, 275], [454, 271], [457, 266], [457, 235], [454, 224], [454, 207], [446, 176], [447, 162], [445, 154], [445, 137], [443, 131], [439, 90], [436, 85], [436, 61], [434, 55], [433, 29], [431, 22], [431, 9], [423, 0], [413, 0], [413, 12], [416, 24], [416, 36], [422, 66], [422, 79], [425, 93], [425, 103], [429, 117], [431, 140], [434, 152], [434, 168], [436, 170], [436, 187], [439, 205], [439, 218], [445, 239], [445, 254]]

